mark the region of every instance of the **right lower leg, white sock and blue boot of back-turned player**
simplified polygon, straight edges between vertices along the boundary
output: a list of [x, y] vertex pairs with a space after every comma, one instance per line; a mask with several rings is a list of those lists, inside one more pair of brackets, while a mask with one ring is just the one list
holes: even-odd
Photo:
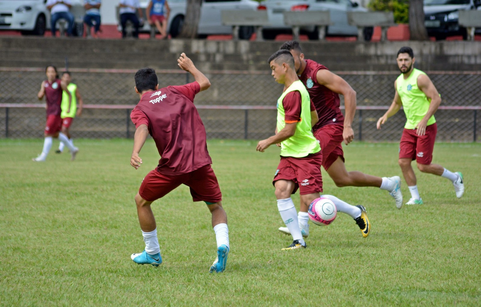
[[217, 241], [217, 257], [212, 263], [209, 272], [221, 273], [226, 269], [227, 257], [229, 254], [229, 230], [227, 227], [227, 214], [222, 208], [222, 202], [214, 204], [207, 203], [212, 214], [212, 227]]

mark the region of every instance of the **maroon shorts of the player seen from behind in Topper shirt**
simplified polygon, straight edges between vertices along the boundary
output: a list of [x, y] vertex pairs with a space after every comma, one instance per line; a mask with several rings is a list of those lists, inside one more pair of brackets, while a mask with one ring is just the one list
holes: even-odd
[[164, 175], [155, 169], [145, 176], [140, 184], [139, 194], [147, 201], [154, 201], [164, 197], [180, 184], [190, 187], [193, 201], [216, 203], [222, 200], [219, 184], [210, 164], [176, 176]]

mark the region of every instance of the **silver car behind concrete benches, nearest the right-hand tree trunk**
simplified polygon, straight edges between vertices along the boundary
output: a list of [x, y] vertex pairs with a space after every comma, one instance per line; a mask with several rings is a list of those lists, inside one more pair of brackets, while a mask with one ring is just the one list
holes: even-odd
[[[291, 27], [284, 24], [285, 11], [329, 11], [333, 25], [327, 27], [329, 36], [357, 36], [357, 28], [349, 25], [347, 12], [367, 12], [350, 0], [266, 0], [261, 2], [259, 9], [266, 9], [270, 26], [264, 27], [263, 36], [266, 39], [275, 38], [281, 33], [291, 33]], [[301, 33], [307, 34], [310, 39], [318, 37], [315, 26], [301, 27]], [[370, 40], [372, 28], [365, 29], [365, 38]]]

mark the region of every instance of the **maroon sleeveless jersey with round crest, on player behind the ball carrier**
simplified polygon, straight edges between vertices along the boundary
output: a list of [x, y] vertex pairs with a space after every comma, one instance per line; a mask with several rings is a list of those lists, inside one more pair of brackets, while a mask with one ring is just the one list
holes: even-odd
[[317, 72], [320, 69], [327, 69], [327, 67], [312, 60], [306, 60], [306, 63], [304, 72], [299, 76], [299, 79], [307, 88], [311, 101], [316, 107], [317, 116], [319, 116], [319, 121], [314, 125], [313, 129], [317, 130], [324, 125], [332, 123], [343, 124], [344, 115], [342, 115], [341, 109], [339, 109], [339, 94], [317, 83]]

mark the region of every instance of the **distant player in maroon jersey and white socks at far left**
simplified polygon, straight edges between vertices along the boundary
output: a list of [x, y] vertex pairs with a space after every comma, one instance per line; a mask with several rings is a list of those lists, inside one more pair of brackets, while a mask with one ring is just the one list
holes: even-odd
[[[74, 147], [74, 144], [69, 141], [66, 135], [64, 135], [61, 130], [62, 118], [60, 117], [61, 108], [60, 104], [62, 102], [62, 90], [67, 90], [67, 85], [65, 82], [61, 81], [58, 77], [57, 68], [53, 65], [49, 65], [45, 68], [45, 74], [47, 75], [47, 80], [42, 82], [40, 86], [40, 91], [37, 94], [39, 100], [45, 96], [47, 101], [46, 112], [47, 112], [47, 124], [45, 125], [44, 140], [42, 153], [32, 160], [35, 162], [43, 162], [47, 158], [52, 147], [52, 139], [58, 138], [61, 142], [67, 145], [70, 150], [71, 160], [75, 160], [75, 156], [78, 152], [78, 148]], [[69, 101], [72, 99], [70, 92], [67, 94]]]

